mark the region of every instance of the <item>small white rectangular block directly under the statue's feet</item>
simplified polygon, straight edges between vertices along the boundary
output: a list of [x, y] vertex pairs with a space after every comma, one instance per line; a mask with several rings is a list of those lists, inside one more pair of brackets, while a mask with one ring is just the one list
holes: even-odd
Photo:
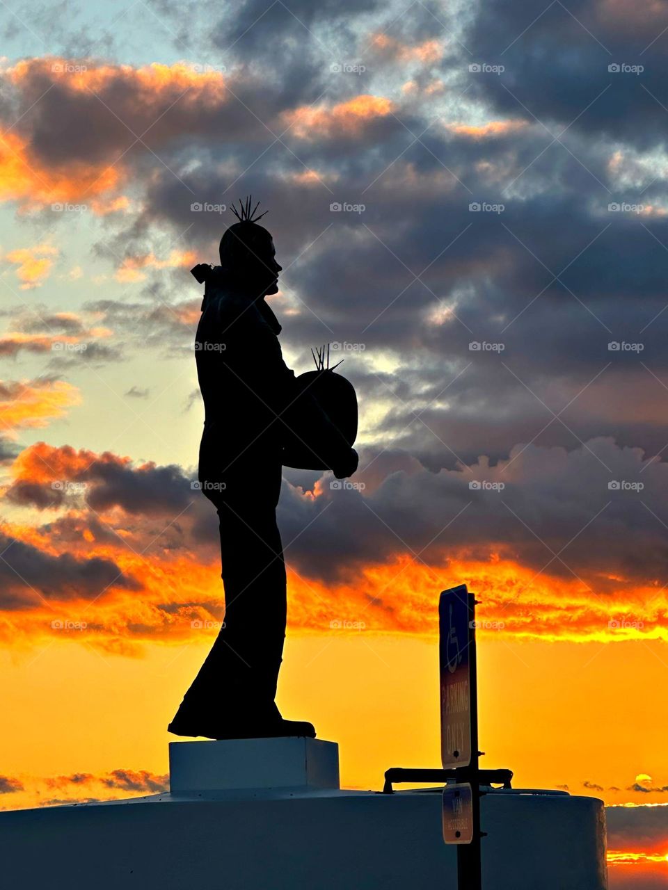
[[172, 741], [172, 794], [237, 789], [338, 789], [338, 745], [305, 738]]

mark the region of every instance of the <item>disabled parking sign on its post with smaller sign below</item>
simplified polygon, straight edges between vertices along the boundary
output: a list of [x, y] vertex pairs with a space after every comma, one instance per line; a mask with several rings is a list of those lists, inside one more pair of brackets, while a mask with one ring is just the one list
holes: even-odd
[[438, 603], [441, 759], [456, 782], [443, 792], [443, 837], [457, 845], [460, 890], [482, 890], [477, 748], [476, 597], [465, 584]]

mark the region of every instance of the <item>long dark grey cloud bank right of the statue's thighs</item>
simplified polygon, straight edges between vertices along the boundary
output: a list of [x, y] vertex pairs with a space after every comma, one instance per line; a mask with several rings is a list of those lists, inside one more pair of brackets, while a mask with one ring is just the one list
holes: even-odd
[[[284, 490], [281, 530], [286, 544], [295, 542], [288, 560], [305, 574], [330, 578], [397, 553], [435, 563], [462, 553], [487, 559], [498, 550], [538, 572], [549, 564], [550, 575], [576, 573], [603, 593], [664, 578], [665, 465], [648, 466], [637, 449], [608, 440], [570, 452], [531, 446], [516, 454], [496, 468], [485, 459], [440, 473], [417, 462], [408, 472], [387, 466], [384, 481], [369, 491], [332, 490], [328, 479], [316, 500]], [[364, 471], [355, 478], [364, 481]], [[639, 482], [643, 488], [635, 489]], [[498, 483], [505, 487], [494, 490]]]

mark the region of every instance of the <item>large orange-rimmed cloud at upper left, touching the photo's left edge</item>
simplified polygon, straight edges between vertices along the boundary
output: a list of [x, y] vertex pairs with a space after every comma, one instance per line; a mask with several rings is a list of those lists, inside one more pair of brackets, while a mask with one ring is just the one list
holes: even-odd
[[[96, 214], [126, 209], [128, 198], [118, 195], [118, 189], [129, 179], [128, 149], [134, 134], [140, 136], [147, 122], [153, 122], [145, 140], [158, 145], [175, 134], [196, 132], [210, 120], [212, 109], [227, 101], [221, 72], [183, 63], [134, 68], [42, 57], [19, 61], [2, 77], [15, 93], [18, 109], [36, 109], [32, 116], [21, 117], [15, 130], [0, 136], [0, 200], [19, 201], [23, 210], [81, 201]], [[52, 106], [57, 101], [67, 110], [68, 134], [77, 132], [77, 124], [94, 132], [107, 128], [89, 147], [89, 157], [82, 158], [73, 144], [70, 152], [51, 158], [45, 132], [37, 148], [30, 127], [42, 120], [38, 101], [47, 92]], [[54, 140], [62, 137], [60, 122], [57, 114], [45, 119], [46, 129], [58, 131]], [[6, 124], [14, 125], [14, 120]], [[143, 150], [142, 142], [135, 147]]]

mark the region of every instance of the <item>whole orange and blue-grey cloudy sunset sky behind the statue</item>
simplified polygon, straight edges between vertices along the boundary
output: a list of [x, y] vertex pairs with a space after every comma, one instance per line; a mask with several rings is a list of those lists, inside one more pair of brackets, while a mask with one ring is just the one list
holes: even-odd
[[[279, 705], [346, 787], [438, 765], [467, 583], [485, 766], [608, 805], [668, 886], [668, 8], [8, 0], [0, 805], [164, 789], [223, 619], [202, 287], [252, 193], [289, 366], [333, 344], [354, 487], [286, 470]], [[337, 358], [337, 360], [338, 360]]]

